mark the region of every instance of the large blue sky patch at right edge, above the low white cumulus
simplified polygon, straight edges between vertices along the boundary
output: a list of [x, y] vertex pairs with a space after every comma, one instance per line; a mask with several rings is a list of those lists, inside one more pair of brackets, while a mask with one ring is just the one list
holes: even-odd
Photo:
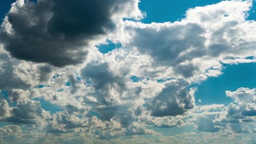
[[200, 105], [225, 104], [233, 100], [226, 96], [225, 91], [236, 91], [238, 88], [256, 87], [256, 63], [225, 64], [224, 70], [218, 77], [208, 77], [207, 80], [197, 86], [195, 92], [196, 101], [201, 99]]

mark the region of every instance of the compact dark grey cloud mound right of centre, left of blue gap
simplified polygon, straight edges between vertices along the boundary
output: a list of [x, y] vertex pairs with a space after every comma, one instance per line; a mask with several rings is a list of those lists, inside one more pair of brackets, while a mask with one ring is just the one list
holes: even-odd
[[189, 94], [189, 83], [183, 79], [165, 84], [165, 88], [147, 103], [152, 116], [176, 116], [192, 109], [195, 104], [193, 95]]

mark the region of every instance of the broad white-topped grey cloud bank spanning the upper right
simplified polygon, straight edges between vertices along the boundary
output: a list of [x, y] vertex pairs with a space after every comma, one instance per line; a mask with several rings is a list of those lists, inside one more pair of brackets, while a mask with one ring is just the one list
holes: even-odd
[[[255, 36], [250, 33], [255, 22], [246, 20], [251, 6], [250, 0], [222, 1], [189, 9], [184, 19], [173, 23], [125, 21], [129, 39], [121, 44], [149, 55], [154, 68], [171, 67], [174, 74], [198, 77], [216, 61], [230, 63], [235, 58], [235, 63], [255, 55]], [[209, 62], [200, 62], [205, 60]]]

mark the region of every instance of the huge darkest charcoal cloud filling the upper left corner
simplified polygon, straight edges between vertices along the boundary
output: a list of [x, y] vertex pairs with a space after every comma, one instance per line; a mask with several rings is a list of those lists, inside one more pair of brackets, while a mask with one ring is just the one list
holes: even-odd
[[[131, 0], [38, 0], [16, 3], [3, 22], [0, 41], [18, 59], [57, 67], [81, 63], [90, 40], [115, 30], [112, 16]], [[7, 30], [8, 23], [12, 33]]]

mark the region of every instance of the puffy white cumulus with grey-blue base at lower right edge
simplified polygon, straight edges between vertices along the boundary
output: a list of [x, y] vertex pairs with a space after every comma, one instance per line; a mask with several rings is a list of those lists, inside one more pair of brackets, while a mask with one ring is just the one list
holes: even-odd
[[[200, 106], [194, 123], [198, 131], [218, 132], [229, 129], [235, 133], [251, 133], [255, 122], [255, 89], [238, 88], [236, 91], [226, 91], [226, 95], [234, 102], [228, 106]], [[250, 124], [249, 124], [250, 123]]]

